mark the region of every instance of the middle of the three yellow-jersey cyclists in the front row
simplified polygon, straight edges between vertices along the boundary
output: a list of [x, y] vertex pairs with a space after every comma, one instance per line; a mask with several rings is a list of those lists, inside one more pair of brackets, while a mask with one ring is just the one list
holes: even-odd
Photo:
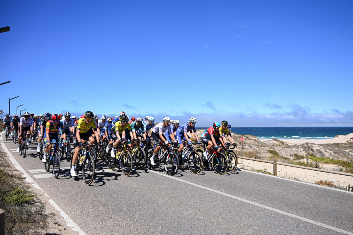
[[116, 157], [116, 158], [119, 157], [119, 154], [121, 152], [121, 148], [118, 148], [119, 154], [116, 154], [114, 156], [116, 147], [118, 147], [119, 143], [127, 141], [128, 143], [127, 149], [130, 151], [131, 141], [127, 140], [126, 129], [128, 129], [128, 132], [131, 132], [131, 135], [132, 135], [130, 123], [127, 122], [128, 120], [127, 116], [121, 115], [119, 119], [120, 121], [115, 122], [115, 125], [112, 127], [112, 130], [110, 131], [110, 137], [114, 141], [113, 149], [112, 151], [110, 151], [110, 156]]

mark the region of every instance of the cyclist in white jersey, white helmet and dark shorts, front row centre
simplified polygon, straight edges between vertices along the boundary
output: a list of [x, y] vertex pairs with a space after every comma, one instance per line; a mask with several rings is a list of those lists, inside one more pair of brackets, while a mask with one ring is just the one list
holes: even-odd
[[[158, 150], [161, 148], [161, 144], [160, 144], [159, 140], [161, 140], [162, 142], [164, 142], [166, 144], [166, 146], [164, 147], [164, 151], [167, 150], [168, 141], [166, 140], [166, 137], [163, 135], [163, 132], [166, 131], [166, 130], [170, 131], [169, 122], [170, 122], [170, 118], [169, 117], [164, 117], [163, 118], [163, 122], [158, 123], [152, 129], [151, 137], [154, 139], [155, 144], [156, 144], [156, 148], [153, 151], [152, 157], [150, 158], [152, 166], [155, 165], [154, 157], [155, 157], [156, 153], [158, 153]], [[173, 135], [171, 135], [170, 137], [172, 137], [172, 140], [175, 141]]]

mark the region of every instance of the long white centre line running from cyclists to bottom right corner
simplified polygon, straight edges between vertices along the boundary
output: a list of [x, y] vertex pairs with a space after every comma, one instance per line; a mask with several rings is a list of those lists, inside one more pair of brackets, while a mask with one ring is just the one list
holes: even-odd
[[327, 224], [323, 224], [323, 223], [320, 223], [320, 222], [317, 222], [317, 221], [313, 221], [311, 219], [307, 219], [307, 218], [304, 218], [304, 217], [301, 217], [301, 216], [297, 216], [297, 215], [294, 215], [294, 214], [291, 214], [291, 213], [288, 213], [288, 212], [285, 212], [285, 211], [281, 211], [281, 210], [278, 210], [278, 209], [275, 209], [275, 208], [272, 208], [272, 207], [269, 207], [269, 206], [265, 206], [265, 205], [262, 205], [262, 204], [259, 204], [259, 203], [256, 203], [256, 202], [252, 202], [252, 201], [240, 198], [240, 197], [235, 197], [235, 196], [233, 196], [231, 194], [223, 193], [221, 191], [217, 191], [217, 190], [214, 190], [212, 188], [208, 188], [208, 187], [204, 187], [204, 186], [201, 186], [201, 185], [198, 185], [198, 184], [194, 184], [194, 183], [191, 183], [189, 181], [178, 179], [178, 178], [175, 178], [175, 177], [170, 176], [170, 175], [166, 175], [166, 174], [163, 174], [163, 173], [160, 173], [160, 172], [156, 172], [156, 171], [149, 171], [149, 172], [152, 172], [152, 173], [155, 173], [155, 174], [158, 174], [158, 175], [162, 175], [162, 176], [168, 177], [170, 179], [178, 180], [178, 181], [181, 181], [183, 183], [190, 184], [192, 186], [203, 188], [205, 190], [208, 190], [208, 191], [211, 191], [211, 192], [215, 192], [215, 193], [221, 194], [221, 195], [226, 196], [226, 197], [234, 198], [234, 199], [237, 199], [237, 200], [239, 200], [241, 202], [245, 202], [245, 203], [249, 203], [249, 204], [252, 204], [252, 205], [255, 205], [255, 206], [259, 206], [261, 208], [264, 208], [264, 209], [267, 209], [267, 210], [271, 210], [271, 211], [280, 213], [282, 215], [286, 215], [286, 216], [290, 216], [290, 217], [293, 217], [293, 218], [297, 218], [297, 219], [300, 219], [302, 221], [305, 221], [305, 222], [308, 222], [308, 223], [312, 223], [312, 224], [318, 225], [318, 226], [323, 227], [323, 228], [331, 229], [331, 230], [334, 230], [336, 232], [340, 232], [340, 233], [344, 233], [344, 234], [353, 235], [353, 233], [351, 233], [349, 231], [346, 231], [346, 230], [343, 230], [343, 229], [332, 227], [332, 226], [327, 225]]

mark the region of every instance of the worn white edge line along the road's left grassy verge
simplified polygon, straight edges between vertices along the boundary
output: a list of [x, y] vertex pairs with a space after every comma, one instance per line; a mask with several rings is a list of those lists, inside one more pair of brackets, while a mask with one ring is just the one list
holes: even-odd
[[[0, 136], [0, 139], [2, 139], [2, 135]], [[29, 176], [29, 174], [22, 168], [22, 166], [20, 166], [18, 164], [18, 162], [16, 161], [16, 159], [12, 156], [12, 154], [10, 153], [10, 151], [8, 151], [4, 141], [1, 141], [1, 146], [4, 149], [4, 151], [8, 154], [8, 158], [11, 160], [12, 164], [23, 173], [23, 176], [26, 177], [26, 180], [30, 183], [33, 183], [32, 186], [39, 189], [40, 191], [44, 192], [42, 190], [41, 187], [39, 187], [39, 185], [37, 185], [37, 183]], [[51, 174], [50, 174], [51, 175]], [[45, 194], [47, 197], [48, 195]], [[80, 235], [87, 235], [75, 222], [72, 221], [72, 219], [64, 212], [60, 209], [60, 207], [58, 205], [56, 205], [56, 203], [50, 199], [49, 203], [52, 204], [56, 210], [60, 211], [60, 214], [62, 217], [64, 217], [65, 221], [67, 222], [68, 227], [70, 227], [72, 230], [74, 231], [78, 231]]]

